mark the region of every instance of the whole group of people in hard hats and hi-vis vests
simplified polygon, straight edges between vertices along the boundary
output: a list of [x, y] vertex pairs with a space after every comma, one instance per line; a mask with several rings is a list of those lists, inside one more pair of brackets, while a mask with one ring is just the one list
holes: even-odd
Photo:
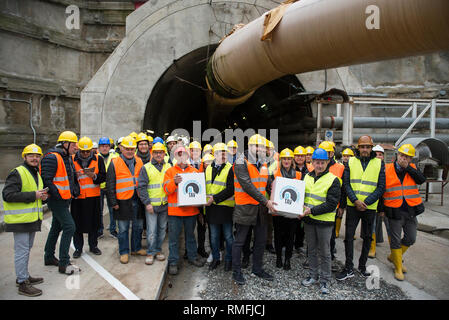
[[[375, 256], [376, 230], [382, 230], [384, 221], [391, 248], [388, 260], [394, 264], [395, 278], [404, 279], [403, 254], [416, 240], [416, 216], [424, 211], [418, 185], [426, 179], [412, 163], [412, 145], [400, 146], [396, 159], [388, 164], [383, 161], [382, 147], [374, 146], [368, 135], [358, 139], [354, 150], [342, 152], [341, 163], [335, 160], [331, 141], [323, 141], [316, 149], [298, 146], [277, 153], [271, 141], [255, 134], [244, 152], [237, 149], [234, 140], [202, 147], [186, 137], [169, 136], [164, 141], [135, 132], [120, 138], [115, 149], [108, 137], [94, 145], [88, 137], [78, 140], [71, 131], [62, 132], [56, 146], [45, 154], [35, 144], [26, 146], [24, 162], [11, 170], [3, 189], [6, 231], [14, 233], [18, 293], [42, 294], [35, 285], [43, 278], [28, 273], [35, 232], [41, 230], [42, 203], [52, 211], [44, 264], [71, 275], [81, 271], [70, 261], [72, 238], [74, 259], [82, 255], [84, 233], [89, 251], [102, 254], [98, 239], [104, 230], [104, 198], [110, 214], [108, 229], [118, 240], [122, 264], [129, 262], [130, 255], [144, 256], [147, 265], [165, 260], [162, 243], [168, 233], [168, 272], [178, 274], [184, 230], [184, 259], [189, 264], [202, 267], [208, 258], [209, 270], [214, 270], [223, 262], [225, 271], [232, 271], [233, 281], [244, 285], [242, 269], [248, 267], [252, 254], [252, 273], [273, 281], [273, 275], [263, 268], [264, 251], [276, 254], [277, 268], [290, 270], [295, 248], [306, 255], [303, 267], [309, 270], [301, 284], [317, 283], [320, 292], [327, 294], [332, 271], [337, 271], [332, 268], [335, 238], [346, 211], [346, 261], [336, 279], [354, 276], [353, 243], [360, 220], [360, 274], [370, 275], [367, 259]], [[197, 172], [205, 175], [207, 203], [178, 205], [182, 174]], [[271, 200], [277, 177], [305, 183], [304, 210], [297, 218], [278, 214]], [[142, 248], [144, 229], [146, 250]], [[58, 259], [55, 250], [61, 232]], [[302, 249], [304, 240], [306, 250]]]

